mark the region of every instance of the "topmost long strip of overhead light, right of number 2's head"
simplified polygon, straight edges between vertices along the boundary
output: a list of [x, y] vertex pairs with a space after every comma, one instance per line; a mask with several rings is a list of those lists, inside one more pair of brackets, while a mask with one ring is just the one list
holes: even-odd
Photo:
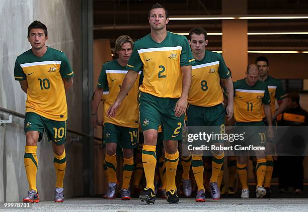
[[254, 19], [308, 19], [306, 14], [304, 15], [239, 15], [239, 16], [171, 16], [169, 20], [254, 20]]

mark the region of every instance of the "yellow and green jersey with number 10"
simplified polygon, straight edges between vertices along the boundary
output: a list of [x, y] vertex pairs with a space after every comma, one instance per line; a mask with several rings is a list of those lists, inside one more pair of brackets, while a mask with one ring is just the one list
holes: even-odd
[[67, 120], [67, 105], [62, 78], [74, 76], [66, 55], [47, 48], [42, 57], [32, 50], [19, 55], [14, 68], [15, 80], [27, 80], [26, 113], [34, 112], [55, 121]]

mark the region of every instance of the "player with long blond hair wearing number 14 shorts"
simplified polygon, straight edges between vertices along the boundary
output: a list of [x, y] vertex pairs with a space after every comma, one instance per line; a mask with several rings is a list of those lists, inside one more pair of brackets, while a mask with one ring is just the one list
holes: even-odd
[[[104, 101], [104, 113], [114, 102], [124, 80], [127, 61], [132, 53], [133, 41], [130, 37], [123, 35], [116, 40], [115, 53], [117, 59], [103, 65], [100, 77], [95, 89], [94, 101], [92, 104], [92, 123], [97, 128], [100, 123], [97, 117], [97, 110], [101, 101], [102, 90], [108, 85], [109, 94]], [[136, 72], [140, 77], [140, 72]], [[119, 107], [117, 117], [104, 116], [104, 140], [106, 143], [106, 165], [109, 172], [107, 198], [115, 198], [117, 179], [117, 145], [123, 149], [123, 182], [121, 188], [121, 199], [130, 200], [129, 182], [134, 167], [133, 149], [137, 146], [138, 140], [138, 81], [132, 85], [132, 90], [125, 95], [123, 104]]]

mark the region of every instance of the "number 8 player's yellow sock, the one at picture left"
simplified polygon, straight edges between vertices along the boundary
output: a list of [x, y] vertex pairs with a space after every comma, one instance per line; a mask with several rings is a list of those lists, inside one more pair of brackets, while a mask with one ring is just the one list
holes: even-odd
[[203, 167], [203, 162], [202, 162], [202, 154], [192, 155], [191, 167], [194, 172], [195, 180], [198, 186], [198, 191], [204, 189], [204, 185], [203, 185], [204, 167]]

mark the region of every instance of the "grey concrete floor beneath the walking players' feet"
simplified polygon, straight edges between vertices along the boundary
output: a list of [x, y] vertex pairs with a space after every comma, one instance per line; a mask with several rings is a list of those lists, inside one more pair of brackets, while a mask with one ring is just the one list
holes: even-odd
[[308, 211], [308, 199], [220, 199], [204, 203], [193, 202], [192, 198], [181, 198], [178, 204], [169, 204], [164, 199], [147, 205], [138, 199], [121, 201], [102, 198], [70, 198], [63, 203], [42, 201], [30, 204], [31, 208], [4, 209], [0, 211]]

